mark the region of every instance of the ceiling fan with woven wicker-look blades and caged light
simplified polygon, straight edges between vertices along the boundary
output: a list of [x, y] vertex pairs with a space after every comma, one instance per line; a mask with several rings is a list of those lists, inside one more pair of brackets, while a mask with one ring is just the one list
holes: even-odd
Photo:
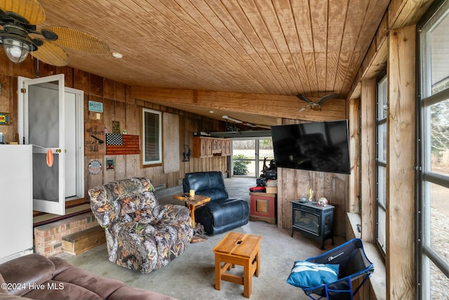
[[37, 0], [0, 0], [0, 44], [11, 61], [22, 63], [31, 53], [48, 65], [62, 67], [69, 63], [63, 48], [87, 53], [109, 51], [105, 42], [79, 30], [60, 26], [36, 30], [45, 18]]

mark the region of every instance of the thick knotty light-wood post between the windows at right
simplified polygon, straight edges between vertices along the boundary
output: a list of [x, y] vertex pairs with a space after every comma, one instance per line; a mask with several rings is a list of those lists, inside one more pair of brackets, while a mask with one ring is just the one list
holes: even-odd
[[416, 26], [391, 30], [387, 117], [387, 299], [415, 299]]

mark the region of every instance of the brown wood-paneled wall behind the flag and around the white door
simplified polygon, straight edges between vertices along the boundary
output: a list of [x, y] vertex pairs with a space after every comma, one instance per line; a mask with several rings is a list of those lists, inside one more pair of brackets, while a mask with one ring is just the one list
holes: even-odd
[[[10, 117], [10, 124], [0, 125], [0, 132], [4, 133], [7, 142], [17, 141], [18, 139], [18, 76], [36, 78], [38, 75], [39, 77], [45, 77], [53, 74], [65, 74], [65, 86], [84, 92], [84, 122], [100, 122], [105, 124], [109, 132], [112, 132], [112, 121], [119, 121], [121, 130], [126, 129], [128, 134], [140, 135], [142, 107], [179, 115], [180, 138], [177, 142], [179, 143], [179, 155], [181, 157], [180, 171], [164, 174], [162, 166], [142, 168], [140, 155], [105, 155], [105, 152], [86, 153], [84, 159], [86, 199], [88, 199], [87, 190], [89, 188], [131, 176], [145, 176], [151, 178], [155, 184], [166, 183], [167, 188], [170, 188], [179, 185], [180, 179], [184, 178], [184, 175], [188, 172], [222, 171], [224, 174], [229, 173], [229, 157], [190, 157], [189, 162], [182, 162], [184, 145], [188, 145], [192, 149], [192, 136], [195, 131], [225, 131], [225, 122], [175, 110], [163, 105], [135, 100], [130, 98], [129, 86], [71, 67], [53, 67], [41, 63], [39, 74], [37, 74], [35, 64], [36, 60], [33, 59], [15, 65], [6, 56], [0, 56], [0, 112], [7, 112]], [[100, 114], [100, 119], [97, 119], [97, 113], [88, 111], [89, 100], [103, 103], [103, 112]], [[170, 145], [164, 145], [164, 147], [170, 147]], [[98, 175], [92, 175], [87, 171], [88, 164], [92, 159], [100, 160], [105, 166], [106, 157], [114, 158], [114, 171], [107, 171], [103, 168]]]

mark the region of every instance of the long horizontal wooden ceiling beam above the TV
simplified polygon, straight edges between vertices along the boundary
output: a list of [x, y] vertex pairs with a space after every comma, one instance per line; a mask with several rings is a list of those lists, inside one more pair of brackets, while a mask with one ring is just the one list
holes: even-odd
[[[210, 110], [227, 112], [223, 115], [236, 117], [239, 114], [272, 117], [276, 124], [276, 118], [302, 119], [306, 121], [333, 121], [345, 119], [344, 99], [332, 99], [326, 102], [322, 110], [307, 109], [300, 112], [307, 103], [296, 96], [265, 95], [255, 93], [232, 93], [222, 91], [196, 91], [189, 89], [158, 89], [144, 86], [131, 86], [130, 96], [135, 99], [152, 103], [159, 103], [168, 107], [185, 107], [185, 110], [204, 114]], [[319, 98], [310, 98], [313, 101]], [[196, 111], [195, 111], [196, 110]], [[201, 113], [202, 112], [202, 113]], [[236, 115], [232, 115], [232, 114]], [[208, 117], [212, 117], [208, 115]], [[217, 116], [222, 119], [221, 115]], [[236, 119], [241, 119], [236, 117]], [[250, 119], [243, 121], [254, 124], [260, 122]], [[266, 123], [262, 123], [266, 124]]]

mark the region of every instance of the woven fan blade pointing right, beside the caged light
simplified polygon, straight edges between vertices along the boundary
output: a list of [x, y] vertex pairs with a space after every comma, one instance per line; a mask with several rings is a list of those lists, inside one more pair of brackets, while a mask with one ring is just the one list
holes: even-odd
[[105, 42], [86, 32], [60, 26], [46, 26], [42, 30], [50, 30], [58, 34], [58, 39], [54, 43], [64, 48], [87, 53], [109, 52], [109, 46]]

